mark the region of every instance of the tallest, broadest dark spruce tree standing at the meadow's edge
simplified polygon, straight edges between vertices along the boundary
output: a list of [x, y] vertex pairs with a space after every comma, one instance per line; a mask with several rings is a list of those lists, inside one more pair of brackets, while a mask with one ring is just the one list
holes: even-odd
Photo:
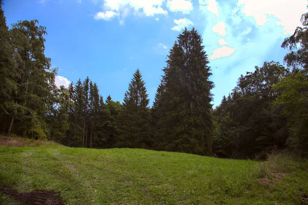
[[211, 153], [211, 111], [214, 83], [201, 35], [192, 28], [179, 34], [163, 69], [164, 91], [156, 125], [160, 150], [200, 155]]

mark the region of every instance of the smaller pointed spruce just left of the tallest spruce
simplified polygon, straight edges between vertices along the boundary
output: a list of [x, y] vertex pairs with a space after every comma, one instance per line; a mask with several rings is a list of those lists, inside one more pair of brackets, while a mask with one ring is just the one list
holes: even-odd
[[137, 69], [126, 91], [119, 116], [117, 146], [150, 148], [152, 146], [149, 99], [140, 70]]

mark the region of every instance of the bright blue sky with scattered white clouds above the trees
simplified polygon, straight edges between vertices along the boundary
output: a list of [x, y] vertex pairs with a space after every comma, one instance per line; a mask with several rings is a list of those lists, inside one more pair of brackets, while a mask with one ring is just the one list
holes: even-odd
[[265, 61], [283, 64], [285, 38], [301, 26], [306, 0], [3, 0], [7, 24], [47, 27], [45, 54], [58, 67], [57, 85], [87, 76], [106, 99], [123, 102], [137, 68], [150, 105], [166, 57], [184, 27], [203, 38], [215, 83], [212, 104], [241, 74]]

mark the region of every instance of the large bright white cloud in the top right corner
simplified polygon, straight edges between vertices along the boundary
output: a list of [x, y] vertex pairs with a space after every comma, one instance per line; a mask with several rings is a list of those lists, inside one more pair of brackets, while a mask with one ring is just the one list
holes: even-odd
[[276, 25], [283, 27], [284, 34], [293, 34], [296, 27], [301, 26], [301, 14], [307, 12], [304, 0], [239, 0], [238, 6], [246, 16], [253, 16], [258, 26], [277, 17]]

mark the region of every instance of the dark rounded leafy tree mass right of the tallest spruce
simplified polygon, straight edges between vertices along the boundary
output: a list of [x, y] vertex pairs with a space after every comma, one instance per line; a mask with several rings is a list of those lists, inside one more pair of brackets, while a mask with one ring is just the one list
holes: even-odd
[[265, 62], [239, 78], [237, 87], [214, 110], [218, 126], [213, 147], [216, 155], [252, 158], [284, 147], [288, 137], [286, 119], [280, 115], [282, 108], [273, 107], [272, 102], [279, 96], [273, 87], [287, 73], [279, 63]]

